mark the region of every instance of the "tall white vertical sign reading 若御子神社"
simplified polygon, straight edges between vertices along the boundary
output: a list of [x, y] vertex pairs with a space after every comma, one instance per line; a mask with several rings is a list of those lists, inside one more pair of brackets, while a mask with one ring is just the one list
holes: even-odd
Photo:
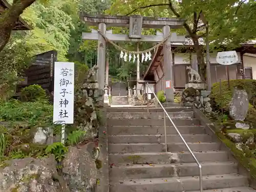
[[53, 122], [74, 123], [74, 76], [73, 62], [54, 63]]

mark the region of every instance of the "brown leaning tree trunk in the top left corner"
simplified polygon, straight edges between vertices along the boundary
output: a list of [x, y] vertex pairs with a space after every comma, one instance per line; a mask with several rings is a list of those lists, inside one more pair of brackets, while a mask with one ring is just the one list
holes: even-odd
[[11, 32], [18, 22], [19, 15], [36, 0], [14, 0], [12, 7], [0, 18], [0, 52], [10, 39]]

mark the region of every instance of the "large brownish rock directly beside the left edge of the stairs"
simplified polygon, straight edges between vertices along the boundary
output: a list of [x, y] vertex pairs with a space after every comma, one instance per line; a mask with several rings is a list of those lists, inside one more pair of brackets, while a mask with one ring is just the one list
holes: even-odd
[[97, 168], [90, 144], [70, 147], [63, 160], [62, 172], [72, 192], [93, 192], [96, 187]]

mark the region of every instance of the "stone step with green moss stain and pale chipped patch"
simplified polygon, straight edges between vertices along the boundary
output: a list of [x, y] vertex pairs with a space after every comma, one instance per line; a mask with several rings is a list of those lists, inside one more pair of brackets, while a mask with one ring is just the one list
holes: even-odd
[[[193, 152], [199, 162], [204, 161], [228, 161], [228, 153], [225, 151], [200, 151]], [[185, 163], [195, 162], [189, 152], [180, 153], [125, 153], [109, 154], [110, 164], [145, 164], [145, 163]]]

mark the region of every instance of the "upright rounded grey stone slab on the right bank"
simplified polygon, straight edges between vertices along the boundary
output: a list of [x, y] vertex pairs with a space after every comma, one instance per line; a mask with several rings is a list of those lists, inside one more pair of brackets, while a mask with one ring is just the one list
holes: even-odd
[[236, 121], [243, 121], [249, 109], [249, 98], [245, 90], [234, 88], [233, 96], [229, 104], [229, 115]]

